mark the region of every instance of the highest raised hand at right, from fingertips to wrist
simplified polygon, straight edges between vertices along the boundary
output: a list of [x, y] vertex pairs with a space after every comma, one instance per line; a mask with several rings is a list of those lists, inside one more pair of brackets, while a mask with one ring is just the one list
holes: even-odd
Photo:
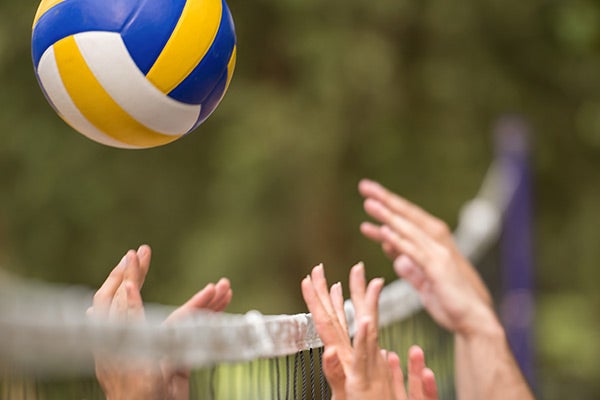
[[467, 337], [499, 325], [489, 291], [443, 221], [376, 182], [362, 180], [359, 192], [367, 214], [380, 223], [363, 223], [362, 233], [381, 243], [438, 324]]

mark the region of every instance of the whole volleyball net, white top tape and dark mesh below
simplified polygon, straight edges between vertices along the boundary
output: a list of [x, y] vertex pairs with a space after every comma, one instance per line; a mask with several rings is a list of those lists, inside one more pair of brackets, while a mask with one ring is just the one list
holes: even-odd
[[[462, 207], [454, 232], [475, 265], [497, 244], [521, 180], [502, 154]], [[174, 308], [148, 304], [143, 323], [98, 321], [86, 316], [92, 296], [87, 288], [0, 276], [0, 399], [103, 398], [93, 354], [189, 367], [197, 399], [330, 397], [321, 370], [323, 345], [310, 314], [198, 312], [165, 325]], [[352, 334], [350, 301], [345, 308]], [[436, 372], [440, 398], [454, 398], [452, 337], [422, 312], [416, 291], [402, 280], [388, 284], [379, 312], [381, 346], [403, 356], [410, 345], [421, 345]]]

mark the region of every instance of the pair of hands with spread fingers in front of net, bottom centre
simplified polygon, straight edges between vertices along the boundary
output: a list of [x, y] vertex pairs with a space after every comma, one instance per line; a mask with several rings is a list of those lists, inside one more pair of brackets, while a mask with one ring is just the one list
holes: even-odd
[[315, 267], [302, 281], [302, 295], [312, 314], [325, 350], [323, 372], [334, 400], [435, 400], [437, 387], [433, 372], [426, 368], [423, 351], [409, 351], [409, 390], [398, 355], [379, 348], [378, 302], [383, 279], [367, 285], [362, 264], [350, 270], [350, 297], [355, 310], [356, 333], [348, 334], [342, 285], [328, 289], [323, 266]]

